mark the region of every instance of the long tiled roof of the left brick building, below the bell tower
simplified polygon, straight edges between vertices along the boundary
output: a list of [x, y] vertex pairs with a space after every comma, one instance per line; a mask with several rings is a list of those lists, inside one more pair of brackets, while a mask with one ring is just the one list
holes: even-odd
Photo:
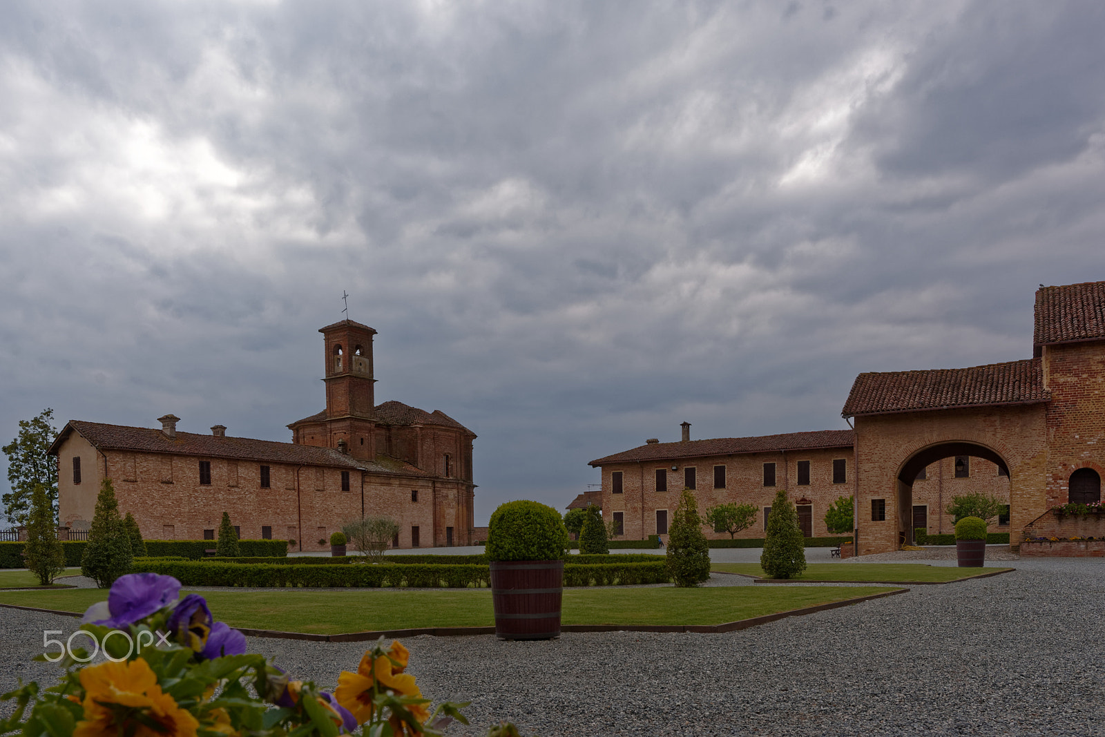
[[70, 429], [81, 433], [85, 440], [101, 450], [270, 461], [272, 463], [292, 463], [296, 465], [357, 468], [371, 473], [415, 476], [431, 475], [404, 461], [386, 455], [377, 456], [372, 461], [364, 461], [339, 453], [332, 448], [277, 443], [271, 440], [254, 440], [252, 438], [201, 435], [192, 432], [178, 432], [176, 440], [171, 440], [160, 430], [152, 430], [150, 428], [130, 428], [101, 422], [83, 422], [81, 420], [71, 420], [65, 425], [65, 429], [57, 435], [57, 440], [54, 441], [54, 445], [50, 449], [52, 453], [56, 452], [57, 444], [64, 439]]

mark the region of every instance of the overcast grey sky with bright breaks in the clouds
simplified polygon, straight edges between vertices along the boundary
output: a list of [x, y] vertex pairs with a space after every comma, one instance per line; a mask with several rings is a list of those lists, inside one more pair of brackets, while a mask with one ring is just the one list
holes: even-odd
[[[322, 336], [476, 440], [476, 524], [643, 443], [844, 428], [1105, 280], [1105, 6], [0, 4], [0, 440], [286, 441]], [[61, 423], [59, 423], [61, 424]]]

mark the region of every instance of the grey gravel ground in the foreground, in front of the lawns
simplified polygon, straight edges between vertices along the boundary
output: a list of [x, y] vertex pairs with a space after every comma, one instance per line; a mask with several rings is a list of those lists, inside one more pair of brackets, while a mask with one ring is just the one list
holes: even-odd
[[[428, 697], [472, 702], [473, 727], [456, 735], [498, 718], [550, 736], [1105, 735], [1105, 560], [1006, 565], [1018, 570], [728, 634], [411, 638], [409, 670]], [[0, 691], [50, 680], [53, 666], [30, 657], [43, 630], [74, 624], [0, 609]], [[250, 649], [333, 685], [364, 646]]]

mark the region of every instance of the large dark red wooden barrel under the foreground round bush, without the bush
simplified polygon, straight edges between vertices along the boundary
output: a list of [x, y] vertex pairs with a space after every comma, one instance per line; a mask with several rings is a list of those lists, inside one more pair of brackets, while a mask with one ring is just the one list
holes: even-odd
[[549, 640], [560, 636], [562, 560], [498, 560], [491, 564], [495, 636]]

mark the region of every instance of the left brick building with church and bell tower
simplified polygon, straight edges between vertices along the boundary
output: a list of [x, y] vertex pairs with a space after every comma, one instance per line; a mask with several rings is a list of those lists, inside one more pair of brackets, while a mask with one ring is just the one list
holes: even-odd
[[286, 538], [301, 550], [361, 516], [400, 526], [394, 547], [469, 545], [475, 434], [440, 411], [375, 403], [372, 328], [343, 320], [324, 336], [326, 409], [288, 425], [292, 442], [70, 421], [50, 453], [59, 518], [86, 527], [101, 482], [150, 539], [213, 539], [225, 510], [244, 538]]

